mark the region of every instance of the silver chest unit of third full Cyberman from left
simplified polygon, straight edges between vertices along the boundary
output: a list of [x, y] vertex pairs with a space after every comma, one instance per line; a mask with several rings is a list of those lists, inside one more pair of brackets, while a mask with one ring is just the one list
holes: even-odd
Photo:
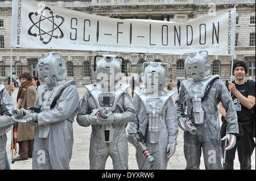
[[141, 100], [145, 113], [148, 115], [148, 136], [151, 144], [158, 142], [160, 128], [159, 128], [159, 116], [163, 114], [164, 106], [169, 98], [175, 94], [175, 91], [170, 91], [159, 97], [148, 97], [147, 94], [138, 94]]

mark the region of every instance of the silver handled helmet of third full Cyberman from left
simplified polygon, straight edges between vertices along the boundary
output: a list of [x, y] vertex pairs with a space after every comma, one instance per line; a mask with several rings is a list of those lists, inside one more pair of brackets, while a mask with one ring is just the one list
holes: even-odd
[[[147, 64], [148, 66], [144, 68]], [[163, 66], [167, 66], [167, 71]], [[169, 64], [164, 64], [161, 62], [144, 62], [142, 64], [142, 70], [144, 71], [142, 79], [146, 83], [146, 88], [150, 89], [151, 86], [148, 86], [147, 84], [148, 82], [151, 82], [151, 85], [158, 86], [158, 90], [163, 90], [164, 85], [169, 81], [169, 68]]]

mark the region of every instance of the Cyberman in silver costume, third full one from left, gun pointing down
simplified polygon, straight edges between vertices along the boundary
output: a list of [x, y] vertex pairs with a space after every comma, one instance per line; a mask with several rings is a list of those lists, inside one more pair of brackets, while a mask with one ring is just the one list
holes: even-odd
[[[163, 91], [164, 85], [168, 82], [168, 68], [166, 73], [162, 66], [165, 64], [150, 62], [143, 63], [143, 67], [146, 64], [149, 64], [144, 70], [146, 91], [135, 91], [137, 95], [133, 99], [133, 104], [137, 113], [127, 130], [127, 139], [136, 148], [139, 169], [163, 170], [167, 168], [177, 144], [176, 108], [171, 98], [175, 91]], [[148, 162], [138, 148], [138, 133], [142, 133], [148, 151], [154, 157], [154, 163]]]

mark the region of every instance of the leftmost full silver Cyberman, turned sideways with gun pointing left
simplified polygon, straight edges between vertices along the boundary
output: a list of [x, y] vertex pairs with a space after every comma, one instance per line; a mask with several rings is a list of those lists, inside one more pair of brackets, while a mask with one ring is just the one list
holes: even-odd
[[[40, 86], [35, 108], [40, 113], [23, 110], [28, 123], [38, 122], [32, 169], [69, 169], [73, 148], [73, 119], [79, 108], [75, 81], [65, 81], [67, 70], [60, 52], [39, 57]], [[13, 116], [13, 119], [15, 117]]]

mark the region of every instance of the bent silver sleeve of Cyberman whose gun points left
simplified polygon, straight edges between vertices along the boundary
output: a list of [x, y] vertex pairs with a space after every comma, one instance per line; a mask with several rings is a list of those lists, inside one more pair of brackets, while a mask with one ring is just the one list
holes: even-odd
[[[79, 108], [79, 94], [75, 85], [70, 85], [61, 94], [54, 108], [38, 113], [38, 124], [47, 125], [75, 117]], [[70, 120], [72, 121], [72, 120]]]

